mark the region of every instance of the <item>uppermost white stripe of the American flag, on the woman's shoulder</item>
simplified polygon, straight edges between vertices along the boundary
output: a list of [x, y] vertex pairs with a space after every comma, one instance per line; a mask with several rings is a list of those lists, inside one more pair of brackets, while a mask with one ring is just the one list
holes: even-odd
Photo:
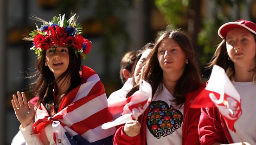
[[100, 78], [97, 74], [94, 74], [91, 77], [89, 77], [86, 83], [80, 85], [78, 93], [76, 94], [76, 97], [72, 101], [72, 103], [80, 100], [82, 97], [87, 96], [89, 91], [91, 91], [94, 85], [99, 81], [100, 81]]

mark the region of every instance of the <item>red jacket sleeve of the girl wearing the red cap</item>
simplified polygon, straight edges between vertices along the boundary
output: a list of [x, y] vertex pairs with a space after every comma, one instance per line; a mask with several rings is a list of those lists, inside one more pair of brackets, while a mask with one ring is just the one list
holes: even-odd
[[233, 143], [225, 120], [217, 108], [202, 108], [199, 121], [201, 144]]

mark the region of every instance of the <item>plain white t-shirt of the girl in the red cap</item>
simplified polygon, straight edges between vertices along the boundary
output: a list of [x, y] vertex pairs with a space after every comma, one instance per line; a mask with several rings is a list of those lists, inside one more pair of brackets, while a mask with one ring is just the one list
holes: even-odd
[[[256, 84], [253, 82], [233, 82], [241, 98], [242, 114], [235, 122], [236, 133], [243, 142], [256, 144]], [[229, 129], [234, 142], [241, 142]]]

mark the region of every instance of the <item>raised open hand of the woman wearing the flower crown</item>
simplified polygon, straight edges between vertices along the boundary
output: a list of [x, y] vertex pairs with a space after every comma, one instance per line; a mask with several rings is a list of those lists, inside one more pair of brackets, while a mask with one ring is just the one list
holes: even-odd
[[25, 128], [33, 120], [35, 114], [34, 105], [27, 101], [27, 97], [24, 92], [20, 93], [18, 91], [17, 96], [18, 99], [16, 95], [12, 95], [13, 100], [11, 100], [11, 104], [22, 128]]

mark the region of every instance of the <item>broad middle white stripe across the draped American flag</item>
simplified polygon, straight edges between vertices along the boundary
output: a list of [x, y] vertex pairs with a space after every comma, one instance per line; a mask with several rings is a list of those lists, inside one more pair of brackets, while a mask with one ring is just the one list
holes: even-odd
[[[75, 104], [72, 104], [75, 105]], [[103, 110], [107, 107], [107, 97], [106, 94], [102, 94], [93, 100], [83, 104], [79, 108], [63, 115], [63, 119], [60, 121], [66, 126], [70, 127], [73, 123], [85, 120], [87, 117], [98, 113], [98, 111]], [[67, 108], [62, 111], [66, 111]]]

